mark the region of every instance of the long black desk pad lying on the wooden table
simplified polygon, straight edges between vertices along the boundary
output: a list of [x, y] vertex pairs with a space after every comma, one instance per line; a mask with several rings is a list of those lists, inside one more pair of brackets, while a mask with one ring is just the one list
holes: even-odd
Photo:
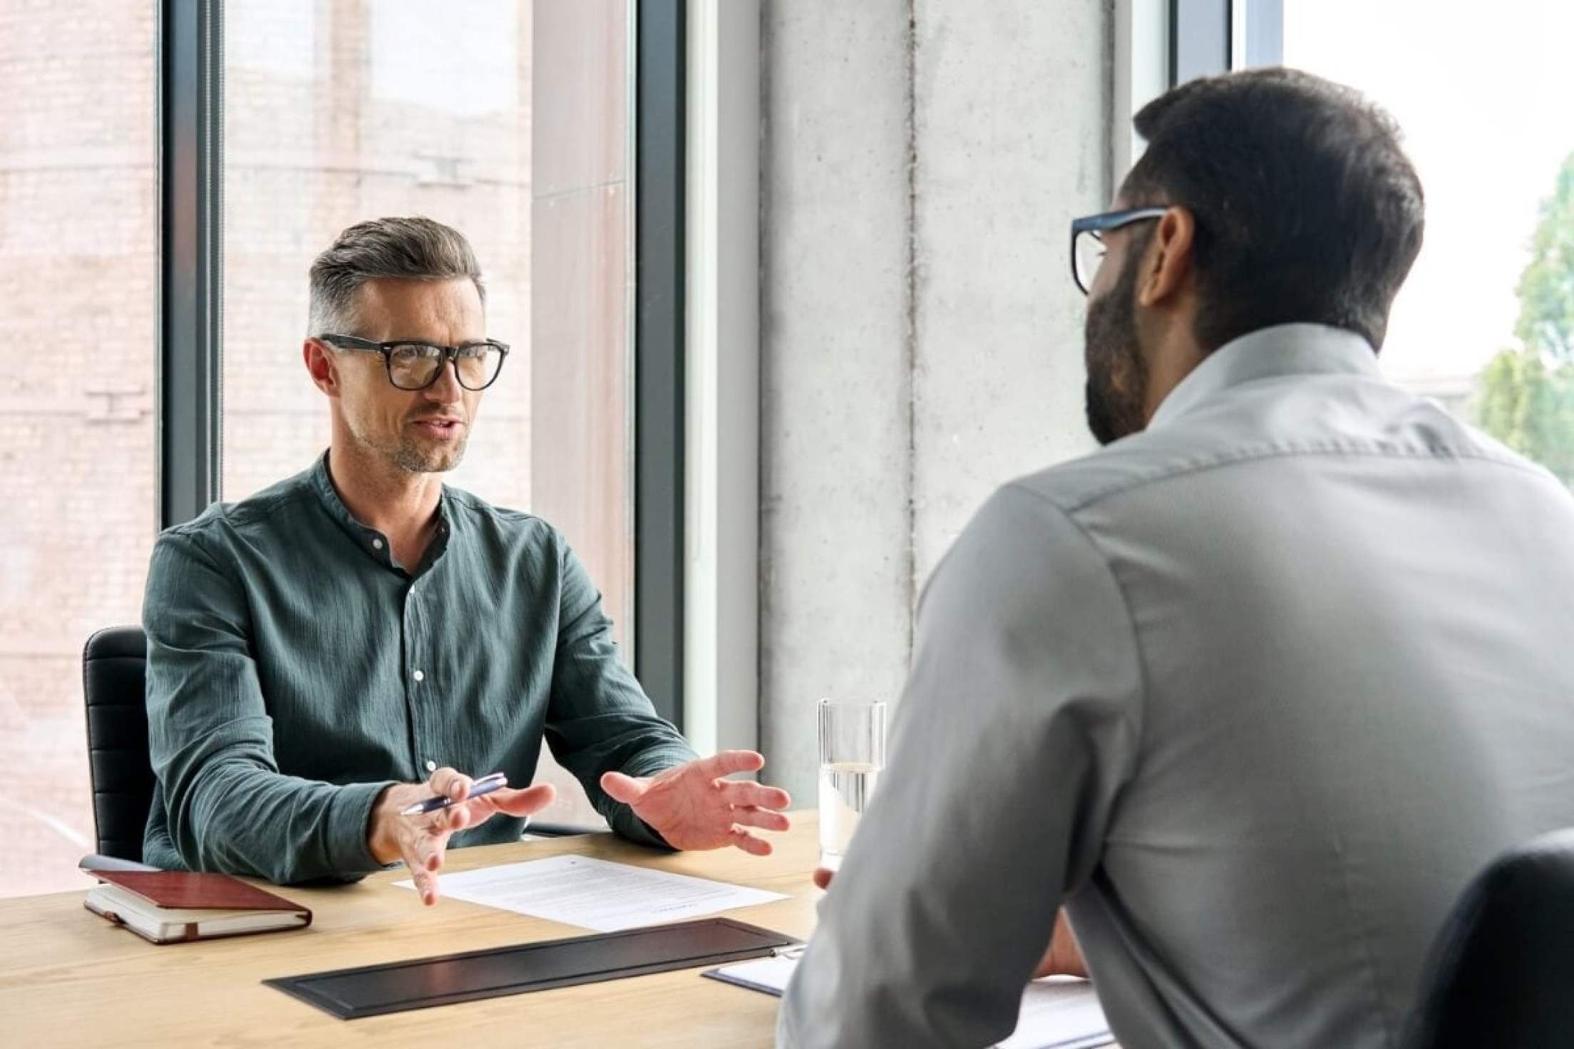
[[340, 1019], [546, 991], [770, 955], [790, 936], [730, 918], [652, 925], [461, 955], [263, 980]]

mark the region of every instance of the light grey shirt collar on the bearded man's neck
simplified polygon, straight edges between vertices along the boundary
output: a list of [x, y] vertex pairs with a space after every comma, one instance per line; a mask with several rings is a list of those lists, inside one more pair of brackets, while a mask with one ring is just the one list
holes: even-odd
[[1275, 324], [1234, 338], [1176, 384], [1147, 429], [1165, 426], [1215, 393], [1254, 379], [1354, 374], [1382, 379], [1377, 351], [1355, 332], [1325, 324]]

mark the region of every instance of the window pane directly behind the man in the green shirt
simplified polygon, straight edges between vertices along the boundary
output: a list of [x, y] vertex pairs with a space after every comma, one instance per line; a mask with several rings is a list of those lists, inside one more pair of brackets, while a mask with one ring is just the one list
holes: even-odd
[[[445, 480], [562, 528], [628, 635], [630, 8], [225, 5], [225, 500], [327, 445], [312, 258], [354, 222], [430, 215], [474, 244], [513, 348]], [[543, 775], [563, 797], [543, 818], [593, 815], [545, 752]]]

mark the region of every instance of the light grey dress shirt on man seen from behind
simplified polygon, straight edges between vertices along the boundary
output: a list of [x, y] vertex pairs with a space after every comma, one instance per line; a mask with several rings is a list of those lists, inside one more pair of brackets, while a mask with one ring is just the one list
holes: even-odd
[[1064, 901], [1125, 1049], [1395, 1046], [1574, 824], [1574, 499], [1317, 326], [999, 489], [935, 571], [784, 1046], [985, 1046]]

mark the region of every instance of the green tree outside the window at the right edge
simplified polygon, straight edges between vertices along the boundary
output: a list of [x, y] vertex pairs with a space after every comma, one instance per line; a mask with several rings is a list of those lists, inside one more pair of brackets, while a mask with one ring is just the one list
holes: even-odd
[[1476, 421], [1574, 484], [1574, 154], [1541, 206], [1514, 333], [1476, 376]]

